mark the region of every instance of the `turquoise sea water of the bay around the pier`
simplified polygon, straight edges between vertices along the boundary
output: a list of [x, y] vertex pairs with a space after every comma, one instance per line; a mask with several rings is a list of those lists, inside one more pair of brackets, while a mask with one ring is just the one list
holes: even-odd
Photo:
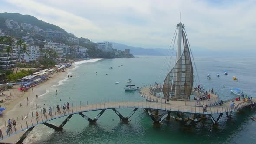
[[[69, 71], [69, 75], [73, 75], [72, 78], [49, 88], [49, 92], [36, 99], [35, 103], [46, 104], [45, 107], [48, 108], [49, 105], [56, 105], [56, 103], [63, 105], [64, 102], [69, 102], [70, 105], [80, 105], [80, 101], [82, 104], [97, 101], [141, 101], [142, 98], [138, 95], [138, 91], [124, 92], [123, 88], [127, 85], [127, 79], [131, 78], [131, 84], [138, 87], [157, 82], [164, 59], [165, 56], [139, 56], [138, 58], [105, 59], [79, 64], [76, 69]], [[240, 88], [251, 96], [256, 93], [253, 87], [256, 72], [255, 59], [195, 57], [195, 62], [201, 85], [203, 84], [205, 88], [213, 88], [220, 94], [221, 99], [236, 97], [230, 94], [230, 88]], [[114, 69], [109, 70], [109, 67]], [[228, 71], [227, 76], [223, 75], [224, 70]], [[163, 82], [166, 69], [162, 73], [159, 83]], [[215, 76], [216, 73], [220, 73], [219, 78]], [[207, 79], [207, 74], [212, 75], [211, 80]], [[234, 81], [233, 76], [236, 76], [239, 81]], [[118, 81], [121, 83], [115, 85]], [[223, 84], [226, 88], [223, 88]], [[198, 85], [198, 79], [197, 83], [194, 81], [194, 85]], [[57, 95], [56, 89], [59, 91]], [[131, 110], [118, 109], [125, 116]], [[98, 112], [92, 111], [85, 115], [94, 118]], [[30, 133], [26, 142], [36, 144], [250, 144], [256, 140], [254, 137], [256, 124], [249, 118], [250, 115], [255, 115], [255, 113], [246, 109], [243, 114], [234, 114], [231, 120], [223, 116], [218, 127], [212, 127], [211, 121], [207, 120], [197, 123], [193, 128], [184, 128], [179, 122], [171, 120], [163, 121], [161, 126], [156, 128], [152, 125], [151, 118], [142, 109], [131, 116], [128, 124], [120, 122], [114, 111], [107, 110], [94, 125], [90, 125], [80, 115], [73, 115], [61, 132], [38, 125]], [[63, 119], [59, 118], [49, 123], [59, 125]]]

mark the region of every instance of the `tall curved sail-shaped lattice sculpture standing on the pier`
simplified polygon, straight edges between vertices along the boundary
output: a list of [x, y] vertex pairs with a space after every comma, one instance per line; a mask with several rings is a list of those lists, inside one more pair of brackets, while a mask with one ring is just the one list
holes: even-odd
[[184, 25], [180, 23], [178, 26], [182, 33], [183, 51], [178, 57], [177, 50], [176, 63], [164, 80], [163, 94], [165, 98], [189, 100], [193, 87], [193, 67]]

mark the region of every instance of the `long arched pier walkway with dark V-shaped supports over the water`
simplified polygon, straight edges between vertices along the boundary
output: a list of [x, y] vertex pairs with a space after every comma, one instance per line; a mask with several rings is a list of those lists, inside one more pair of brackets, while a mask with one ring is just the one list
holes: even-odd
[[[138, 108], [146, 109], [148, 114], [151, 116], [152, 120], [156, 123], [161, 122], [166, 118], [167, 116], [170, 116], [170, 112], [177, 112], [178, 113], [192, 113], [197, 115], [209, 115], [211, 117], [211, 120], [213, 124], [217, 124], [223, 115], [223, 113], [226, 113], [227, 116], [232, 114], [233, 111], [240, 110], [243, 107], [252, 105], [254, 101], [236, 101], [236, 105], [233, 107], [230, 107], [230, 103], [226, 103], [225, 105], [218, 105], [218, 106], [212, 106], [208, 107], [207, 111], [203, 111], [202, 107], [198, 106], [189, 106], [189, 105], [179, 105], [179, 104], [165, 104], [165, 103], [157, 103], [157, 102], [149, 102], [149, 101], [116, 101], [116, 102], [103, 102], [99, 104], [91, 104], [91, 105], [80, 105], [76, 107], [70, 107], [69, 111], [66, 111], [66, 113], [58, 113], [57, 111], [53, 111], [53, 115], [43, 115], [40, 114], [38, 118], [36, 115], [28, 115], [27, 118], [24, 118], [23, 120], [17, 121], [16, 126], [12, 127], [12, 130], [8, 135], [6, 135], [6, 129], [7, 127], [1, 128], [1, 137], [2, 139], [5, 139], [7, 137], [10, 137], [14, 134], [17, 134], [21, 131], [26, 131], [23, 136], [20, 138], [20, 140], [17, 142], [18, 144], [22, 143], [22, 141], [26, 138], [26, 136], [30, 133], [30, 131], [38, 124], [44, 124], [50, 128], [53, 128], [55, 130], [61, 130], [63, 126], [69, 121], [69, 119], [74, 114], [79, 114], [82, 117], [84, 117], [86, 120], [91, 122], [96, 122], [97, 119], [105, 112], [107, 109], [112, 109], [115, 111], [115, 113], [122, 119], [122, 121], [128, 121], [128, 118], [131, 117], [135, 113], [135, 111]], [[131, 113], [124, 117], [122, 116], [116, 109], [118, 108], [132, 108], [133, 110]], [[166, 111], [166, 114], [162, 115], [159, 120], [154, 118], [150, 112], [150, 110], [162, 110]], [[82, 112], [88, 112], [88, 111], [100, 111], [100, 113], [94, 118], [91, 119], [87, 117]], [[212, 114], [220, 114], [217, 121], [214, 120], [212, 117]], [[67, 118], [62, 122], [62, 124], [57, 127], [55, 125], [47, 123], [47, 121], [51, 121], [56, 118], [62, 118], [67, 116]], [[182, 118], [181, 118], [182, 119]], [[1, 142], [1, 141], [0, 141]]]

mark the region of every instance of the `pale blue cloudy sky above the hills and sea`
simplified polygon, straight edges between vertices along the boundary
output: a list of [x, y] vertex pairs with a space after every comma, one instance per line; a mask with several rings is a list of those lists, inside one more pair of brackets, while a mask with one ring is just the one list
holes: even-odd
[[[254, 50], [255, 0], [0, 0], [20, 13], [93, 42], [169, 48], [181, 13], [191, 47]], [[254, 50], [255, 52], [255, 50]]]

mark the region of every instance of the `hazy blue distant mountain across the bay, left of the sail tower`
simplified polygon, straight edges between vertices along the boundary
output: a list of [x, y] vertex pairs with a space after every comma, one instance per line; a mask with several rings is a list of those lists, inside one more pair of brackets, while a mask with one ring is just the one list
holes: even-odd
[[145, 49], [141, 47], [127, 46], [121, 43], [111, 43], [113, 43], [114, 49], [119, 49], [122, 51], [124, 51], [125, 49], [130, 49], [130, 53], [132, 53], [133, 55], [165, 56], [168, 52], [168, 49]]

